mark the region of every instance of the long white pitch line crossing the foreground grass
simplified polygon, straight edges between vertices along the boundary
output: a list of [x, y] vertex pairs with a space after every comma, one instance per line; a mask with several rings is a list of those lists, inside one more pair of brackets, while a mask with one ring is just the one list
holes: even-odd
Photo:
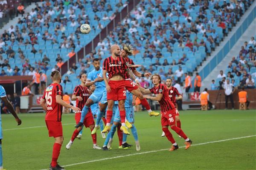
[[[225, 142], [225, 141], [236, 140], [236, 139], [244, 139], [244, 138], [250, 138], [250, 137], [254, 137], [254, 136], [256, 136], [256, 135], [242, 136], [242, 137], [238, 137], [238, 138], [223, 139], [223, 140], [212, 141], [212, 142], [204, 142], [204, 143], [199, 143], [199, 144], [192, 144], [191, 146], [198, 146], [198, 145], [204, 145], [204, 144], [210, 144], [210, 143]], [[179, 147], [179, 148], [183, 148], [183, 147], [185, 147], [185, 146], [182, 146], [182, 147]], [[109, 160], [109, 159], [116, 159], [116, 158], [122, 158], [122, 157], [127, 157], [127, 156], [142, 155], [142, 154], [145, 154], [145, 153], [154, 153], [154, 152], [159, 152], [159, 151], [169, 150], [169, 149], [170, 148], [160, 149], [160, 150], [151, 150], [151, 151], [147, 151], [147, 152], [134, 153], [134, 154], [128, 154], [128, 155], [123, 155], [123, 156], [114, 156], [114, 157], [110, 157], [110, 158], [96, 159], [96, 160], [85, 161], [85, 162], [80, 162], [80, 163], [76, 163], [76, 164], [68, 164], [68, 165], [64, 165], [63, 167], [70, 167], [70, 166], [74, 166], [74, 165], [87, 164], [87, 163], [97, 162], [97, 161], [105, 161], [105, 160]], [[48, 170], [48, 169], [44, 169], [44, 170]]]

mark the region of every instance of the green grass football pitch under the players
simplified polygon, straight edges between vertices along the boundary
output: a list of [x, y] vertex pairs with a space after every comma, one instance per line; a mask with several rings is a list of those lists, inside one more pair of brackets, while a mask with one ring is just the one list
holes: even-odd
[[[18, 127], [12, 115], [2, 115], [4, 167], [7, 170], [49, 168], [54, 139], [48, 137], [44, 114], [19, 116], [22, 125]], [[65, 145], [73, 133], [75, 120], [74, 114], [64, 114], [64, 144], [58, 162], [68, 165], [67, 170], [256, 169], [256, 110], [180, 111], [180, 120], [183, 131], [195, 144], [188, 150], [183, 147], [184, 140], [171, 130], [180, 149], [169, 152], [167, 149], [171, 143], [166, 137], [161, 137], [160, 116], [149, 117], [146, 112], [135, 113], [141, 146], [139, 152], [132, 135], [128, 136], [128, 143], [134, 144], [130, 149], [118, 149], [115, 135], [112, 150], [93, 150], [89, 129], [84, 130], [82, 139], [76, 139], [67, 150]], [[102, 146], [104, 140], [100, 133], [97, 139]]]

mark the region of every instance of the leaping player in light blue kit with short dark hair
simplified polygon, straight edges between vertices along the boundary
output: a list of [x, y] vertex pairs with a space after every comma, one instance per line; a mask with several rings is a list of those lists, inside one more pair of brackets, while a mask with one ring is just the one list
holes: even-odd
[[[90, 87], [91, 85], [94, 84], [96, 86], [96, 89], [93, 92], [93, 94], [90, 95], [89, 99], [85, 103], [84, 108], [82, 110], [80, 122], [75, 127], [83, 126], [82, 122], [84, 122], [84, 117], [86, 116], [90, 106], [93, 105], [94, 103], [99, 103], [101, 101], [103, 92], [106, 89], [106, 85], [105, 85], [105, 82], [103, 81], [103, 78], [99, 77], [99, 74], [102, 71], [102, 68], [100, 68], [100, 61], [98, 58], [93, 59], [93, 66], [94, 66], [94, 69], [88, 74], [85, 85], [87, 87]], [[103, 115], [105, 113], [106, 108], [107, 108], [107, 103], [101, 103], [99, 114]], [[96, 124], [96, 125], [97, 127], [99, 126], [99, 124]]]

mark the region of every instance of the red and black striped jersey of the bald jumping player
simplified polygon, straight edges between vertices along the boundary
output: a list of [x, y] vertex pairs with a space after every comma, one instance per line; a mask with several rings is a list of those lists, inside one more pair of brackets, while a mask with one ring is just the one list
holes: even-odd
[[116, 57], [116, 59], [113, 59], [113, 57], [108, 57], [103, 62], [102, 70], [105, 70], [108, 72], [108, 77], [111, 79], [114, 74], [120, 74], [122, 77], [124, 77], [125, 70], [128, 68], [126, 65], [125, 59], [122, 57]]

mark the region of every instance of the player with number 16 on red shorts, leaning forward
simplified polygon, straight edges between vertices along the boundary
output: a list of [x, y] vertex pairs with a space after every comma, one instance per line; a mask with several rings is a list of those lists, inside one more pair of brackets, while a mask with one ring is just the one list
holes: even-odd
[[147, 99], [158, 101], [161, 107], [161, 124], [162, 130], [165, 133], [166, 138], [172, 142], [172, 148], [170, 151], [178, 149], [178, 145], [172, 137], [172, 133], [169, 131], [168, 126], [171, 127], [178, 135], [182, 136], [186, 141], [185, 149], [188, 149], [192, 144], [192, 141], [185, 135], [183, 130], [176, 126], [175, 123], [175, 106], [171, 99], [169, 98], [169, 93], [166, 85], [161, 84], [161, 77], [158, 74], [152, 75], [152, 83], [154, 87], [151, 89], [145, 89], [140, 87], [143, 94], [155, 94], [156, 96], [145, 96]]

